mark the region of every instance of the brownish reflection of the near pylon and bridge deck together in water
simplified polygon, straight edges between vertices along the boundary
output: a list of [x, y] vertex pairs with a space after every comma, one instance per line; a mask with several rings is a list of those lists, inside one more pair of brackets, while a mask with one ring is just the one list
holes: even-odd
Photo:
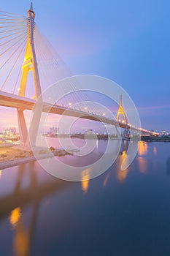
[[[69, 183], [58, 181], [51, 176], [47, 176], [45, 181], [38, 183], [35, 162], [19, 165], [17, 168], [13, 192], [0, 196], [0, 221], [8, 217], [12, 226], [14, 232], [12, 255], [28, 256], [30, 255], [41, 201], [47, 195], [58, 192]], [[88, 178], [88, 172], [85, 175]], [[84, 188], [87, 191], [88, 186], [86, 185]], [[27, 219], [24, 219], [24, 211], [28, 206], [31, 207], [31, 214]]]

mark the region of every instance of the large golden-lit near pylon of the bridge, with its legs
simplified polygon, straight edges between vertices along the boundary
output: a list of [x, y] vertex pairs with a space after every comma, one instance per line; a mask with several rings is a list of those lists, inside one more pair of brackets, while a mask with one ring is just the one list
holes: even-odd
[[[39, 80], [39, 71], [37, 67], [36, 61], [36, 52], [34, 48], [34, 19], [35, 19], [35, 12], [33, 10], [33, 5], [31, 3], [31, 7], [28, 10], [28, 39], [26, 44], [26, 52], [25, 57], [22, 65], [22, 76], [20, 80], [20, 89], [19, 89], [19, 96], [25, 97], [26, 94], [26, 85], [28, 80], [28, 72], [33, 73], [34, 79], [34, 89], [35, 89], [35, 99], [38, 99], [42, 94], [41, 84]], [[39, 111], [38, 116], [33, 116], [30, 126], [30, 134], [28, 136], [28, 129], [26, 127], [26, 121], [23, 113], [22, 106], [18, 109], [18, 126], [20, 130], [20, 146], [23, 147], [30, 147], [30, 138], [32, 143], [36, 143], [36, 135], [39, 128], [39, 120], [41, 118], [41, 111]], [[36, 120], [35, 120], [36, 119]]]

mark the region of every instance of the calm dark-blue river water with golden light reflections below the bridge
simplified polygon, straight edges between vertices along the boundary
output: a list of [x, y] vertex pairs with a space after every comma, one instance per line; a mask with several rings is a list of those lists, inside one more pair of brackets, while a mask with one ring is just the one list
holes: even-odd
[[[99, 140], [89, 162], [106, 145]], [[0, 171], [0, 255], [169, 256], [170, 143], [140, 142], [121, 171], [124, 154], [90, 181], [59, 180], [37, 162]]]

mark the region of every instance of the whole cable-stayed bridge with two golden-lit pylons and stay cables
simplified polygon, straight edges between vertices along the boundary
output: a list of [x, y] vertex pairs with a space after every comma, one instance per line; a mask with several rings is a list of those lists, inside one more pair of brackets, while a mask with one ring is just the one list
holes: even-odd
[[[72, 76], [72, 72], [69, 71], [64, 61], [42, 36], [34, 19], [35, 12], [32, 4], [27, 17], [0, 11], [0, 105], [17, 109], [20, 144], [25, 147], [29, 146], [30, 136], [26, 127], [24, 110], [34, 110], [42, 91], [58, 80]], [[34, 85], [34, 92], [31, 85]], [[72, 91], [75, 91], [74, 84], [69, 86], [72, 87]], [[64, 91], [66, 90], [64, 86], [62, 90], [63, 94], [67, 93]], [[88, 95], [83, 92], [72, 94], [70, 97], [63, 98], [55, 105], [43, 101], [40, 112], [100, 121], [121, 127], [128, 132], [131, 130], [150, 135], [156, 134], [128, 123], [121, 95], [116, 118], [109, 118], [101, 110], [95, 108], [88, 107], [88, 112], [85, 108], [83, 110], [72, 108], [70, 102], [88, 100]], [[30, 131], [33, 131], [31, 136], [34, 141], [36, 141], [41, 113], [31, 121]]]

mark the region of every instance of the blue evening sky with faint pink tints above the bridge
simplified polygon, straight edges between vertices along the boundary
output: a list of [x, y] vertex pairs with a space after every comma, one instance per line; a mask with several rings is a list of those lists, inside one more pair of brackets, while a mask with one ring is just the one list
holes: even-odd
[[[114, 80], [142, 127], [170, 130], [169, 0], [34, 0], [36, 24], [75, 75]], [[3, 1], [26, 15], [30, 1]]]

